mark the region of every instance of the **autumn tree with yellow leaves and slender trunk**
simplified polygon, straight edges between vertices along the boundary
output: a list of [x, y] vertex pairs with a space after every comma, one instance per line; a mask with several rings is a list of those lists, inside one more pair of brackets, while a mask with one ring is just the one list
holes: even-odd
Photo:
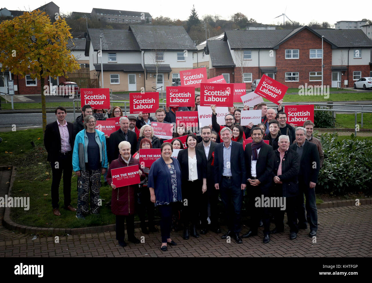
[[52, 23], [45, 12], [37, 10], [0, 23], [1, 71], [30, 74], [40, 81], [43, 131], [47, 125], [45, 77], [65, 76], [66, 72], [80, 69], [67, 48], [68, 39], [72, 38], [70, 27], [65, 19], [55, 17]]

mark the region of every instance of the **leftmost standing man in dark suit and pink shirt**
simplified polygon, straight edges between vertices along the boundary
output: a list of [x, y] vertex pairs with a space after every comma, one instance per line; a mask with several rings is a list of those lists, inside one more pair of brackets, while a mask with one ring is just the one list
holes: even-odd
[[45, 128], [44, 145], [48, 152], [47, 160], [52, 167], [52, 207], [53, 214], [61, 216], [59, 210], [59, 187], [63, 172], [63, 195], [64, 207], [67, 210], [76, 211], [71, 206], [71, 175], [72, 175], [72, 149], [74, 147], [73, 123], [65, 120], [66, 109], [59, 106], [55, 109], [57, 121], [50, 123]]

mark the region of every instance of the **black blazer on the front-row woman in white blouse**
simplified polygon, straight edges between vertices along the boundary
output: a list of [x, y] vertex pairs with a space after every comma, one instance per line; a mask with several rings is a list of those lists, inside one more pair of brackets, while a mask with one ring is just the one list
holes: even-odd
[[[205, 168], [207, 166], [207, 159], [205, 158], [205, 153], [200, 149], [196, 148], [196, 168], [198, 169], [198, 180], [203, 180], [207, 177]], [[177, 160], [181, 166], [182, 172], [182, 182], [189, 179], [189, 149], [182, 149], [178, 153]]]

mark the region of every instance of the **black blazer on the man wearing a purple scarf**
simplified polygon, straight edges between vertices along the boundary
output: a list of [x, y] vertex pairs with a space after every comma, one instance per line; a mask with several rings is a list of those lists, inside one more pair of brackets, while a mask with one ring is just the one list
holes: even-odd
[[[251, 143], [246, 145], [246, 150], [244, 151], [244, 157], [246, 160], [246, 170], [247, 170], [247, 179], [254, 179], [251, 175], [251, 161], [252, 161], [252, 147]], [[271, 174], [273, 171], [273, 147], [264, 143], [260, 152], [258, 153], [258, 159], [256, 163], [256, 177], [260, 181], [261, 188], [269, 189], [272, 184]], [[247, 186], [250, 186], [250, 183], [247, 182]]]

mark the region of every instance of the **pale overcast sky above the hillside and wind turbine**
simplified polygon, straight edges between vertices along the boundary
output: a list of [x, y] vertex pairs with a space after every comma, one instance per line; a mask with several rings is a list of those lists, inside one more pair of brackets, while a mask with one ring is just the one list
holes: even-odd
[[[33, 10], [40, 7], [42, 4], [49, 1], [29, 1], [17, 0], [7, 1], [2, 6], [8, 10]], [[220, 15], [222, 19], [230, 19], [231, 15], [241, 12], [248, 17], [253, 18], [257, 22], [266, 24], [276, 24], [278, 20], [283, 22], [283, 16], [274, 19], [281, 15], [286, 10], [286, 15], [292, 21], [309, 23], [310, 21], [329, 22], [331, 25], [340, 20], [357, 21], [363, 18], [370, 19], [371, 9], [358, 9], [355, 6], [356, 2], [345, 0], [340, 1], [76, 1], [76, 0], [55, 0], [55, 4], [60, 7], [60, 11], [68, 12], [92, 12], [92, 8], [114, 9], [148, 12], [154, 18], [158, 16], [169, 17], [171, 19], [186, 20], [195, 4], [196, 12], [199, 19], [203, 15]], [[367, 2], [366, 2], [367, 3]], [[370, 3], [370, 2], [368, 2]], [[368, 7], [369, 4], [366, 4]], [[359, 7], [363, 7], [359, 6]], [[142, 8], [144, 8], [142, 10]], [[334, 27], [334, 26], [333, 26]]]

